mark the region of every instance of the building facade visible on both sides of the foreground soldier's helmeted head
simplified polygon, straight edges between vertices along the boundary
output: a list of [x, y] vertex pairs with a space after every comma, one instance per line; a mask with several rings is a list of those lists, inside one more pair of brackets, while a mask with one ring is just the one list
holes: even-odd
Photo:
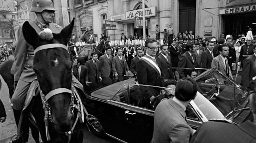
[[[17, 39], [17, 32], [19, 25], [25, 21], [35, 20], [36, 16], [34, 12], [30, 12], [32, 0], [13, 0], [17, 10], [17, 19], [14, 21], [14, 32]], [[52, 0], [54, 3], [55, 11], [54, 23], [64, 27], [67, 26], [70, 21], [68, 17], [68, 5], [67, 0]]]

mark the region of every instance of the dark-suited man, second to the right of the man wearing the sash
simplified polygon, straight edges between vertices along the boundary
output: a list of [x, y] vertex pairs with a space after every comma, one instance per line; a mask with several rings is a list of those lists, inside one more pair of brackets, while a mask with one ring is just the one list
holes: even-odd
[[195, 52], [195, 47], [193, 44], [188, 43], [186, 45], [186, 50], [187, 52], [182, 54], [178, 63], [178, 67], [181, 68], [177, 69], [180, 78], [185, 78], [184, 69], [182, 68], [195, 68], [196, 65], [195, 55], [193, 54]]

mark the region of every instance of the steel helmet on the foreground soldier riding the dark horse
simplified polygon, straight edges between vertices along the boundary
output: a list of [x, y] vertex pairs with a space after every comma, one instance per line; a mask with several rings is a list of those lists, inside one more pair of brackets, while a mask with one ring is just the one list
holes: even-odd
[[44, 10], [56, 11], [52, 0], [32, 0], [31, 12], [41, 13]]

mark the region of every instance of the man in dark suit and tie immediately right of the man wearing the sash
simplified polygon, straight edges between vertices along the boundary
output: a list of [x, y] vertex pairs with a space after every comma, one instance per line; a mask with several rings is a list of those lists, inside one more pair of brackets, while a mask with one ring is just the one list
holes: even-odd
[[168, 53], [168, 45], [162, 45], [161, 46], [161, 54], [158, 56], [158, 58], [161, 61], [161, 70], [163, 72], [163, 78], [164, 79], [174, 79], [174, 74], [171, 69], [168, 69], [172, 67], [171, 63], [171, 57], [167, 54]]

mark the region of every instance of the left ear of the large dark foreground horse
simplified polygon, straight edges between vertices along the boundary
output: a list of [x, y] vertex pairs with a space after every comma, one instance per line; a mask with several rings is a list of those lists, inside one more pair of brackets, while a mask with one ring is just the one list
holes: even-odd
[[36, 45], [38, 44], [38, 34], [28, 21], [24, 22], [22, 33], [27, 43], [36, 48]]

